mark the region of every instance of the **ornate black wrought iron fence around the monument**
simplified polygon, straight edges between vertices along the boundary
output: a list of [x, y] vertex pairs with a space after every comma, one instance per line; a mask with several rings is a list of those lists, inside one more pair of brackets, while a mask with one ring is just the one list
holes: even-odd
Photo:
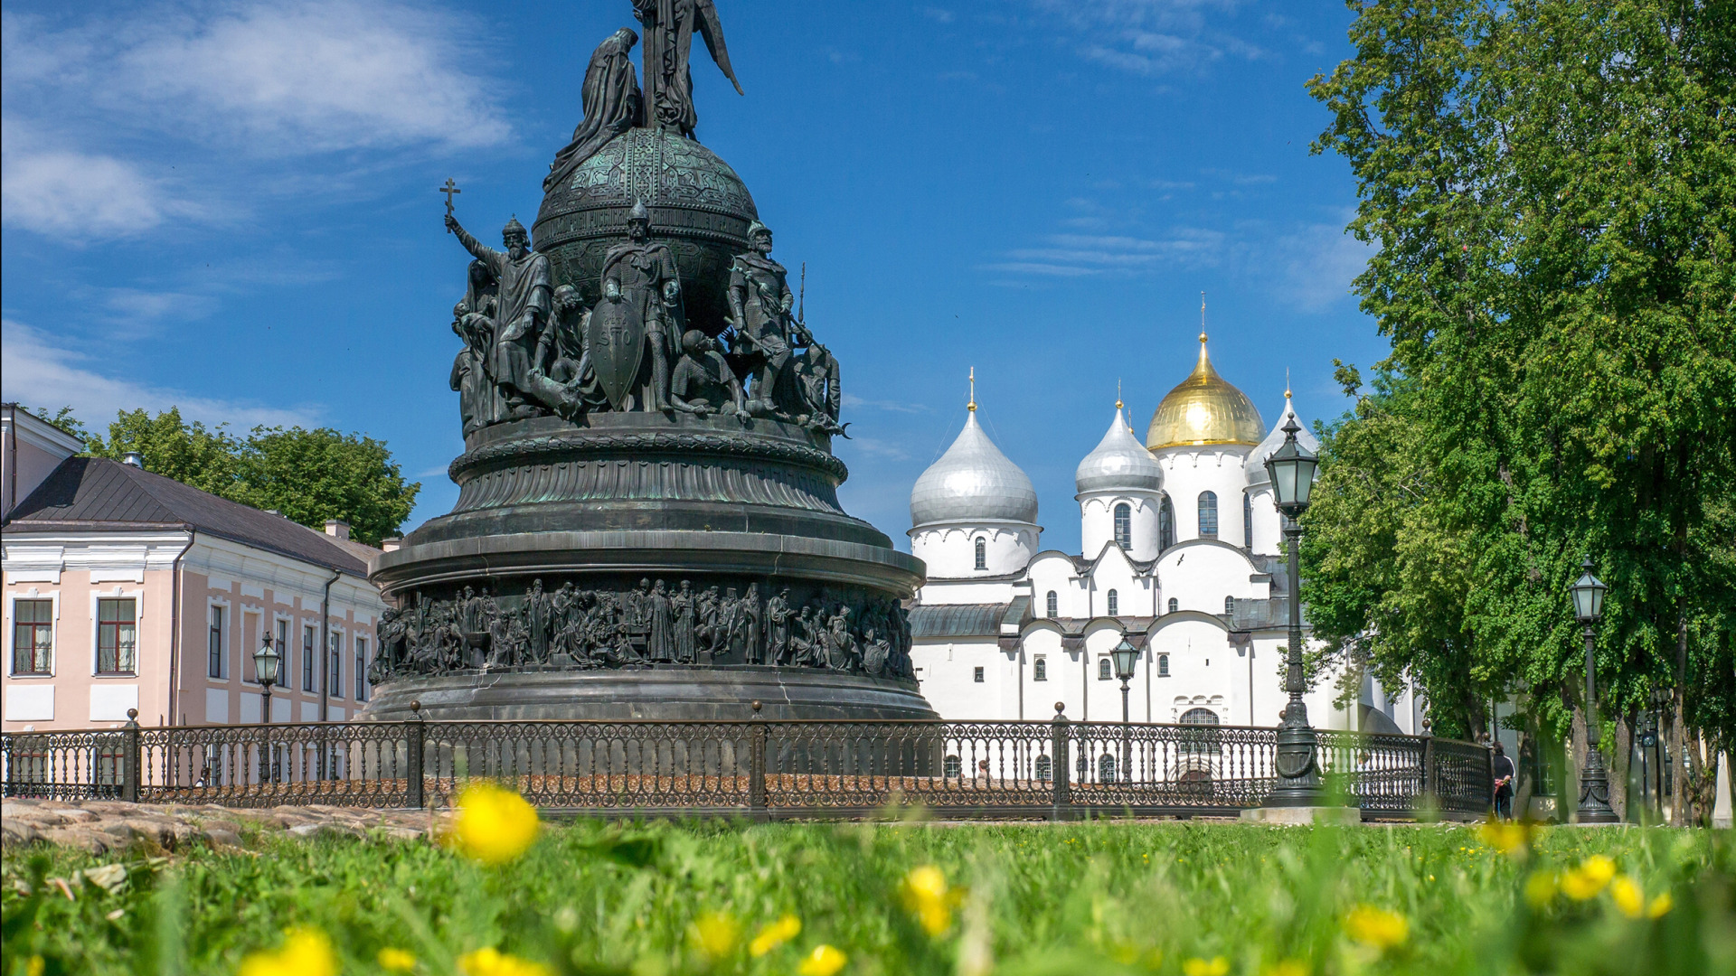
[[[1364, 820], [1483, 816], [1489, 752], [1319, 731], [1319, 769]], [[1233, 814], [1276, 781], [1276, 729], [948, 721], [422, 721], [7, 733], [9, 797], [224, 806], [444, 806], [472, 778], [540, 808], [649, 816]]]

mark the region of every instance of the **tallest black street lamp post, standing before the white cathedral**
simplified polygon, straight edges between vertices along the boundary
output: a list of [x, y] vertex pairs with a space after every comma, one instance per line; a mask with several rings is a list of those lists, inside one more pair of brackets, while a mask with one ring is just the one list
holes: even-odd
[[1314, 469], [1318, 458], [1297, 443], [1295, 417], [1285, 425], [1285, 443], [1266, 458], [1266, 472], [1272, 481], [1272, 502], [1285, 516], [1285, 549], [1290, 554], [1290, 656], [1285, 674], [1285, 691], [1290, 703], [1285, 707], [1283, 724], [1278, 726], [1278, 785], [1272, 787], [1266, 806], [1326, 806], [1326, 797], [1319, 788], [1319, 736], [1307, 722], [1307, 705], [1302, 702], [1305, 683], [1302, 681], [1302, 512], [1309, 507], [1309, 495], [1314, 490]]

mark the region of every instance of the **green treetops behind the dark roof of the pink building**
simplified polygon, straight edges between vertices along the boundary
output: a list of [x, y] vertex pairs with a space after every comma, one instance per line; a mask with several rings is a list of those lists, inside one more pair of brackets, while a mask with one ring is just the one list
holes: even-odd
[[155, 417], [123, 410], [104, 438], [89, 432], [69, 410], [57, 417], [38, 413], [82, 434], [92, 457], [120, 460], [139, 452], [146, 471], [243, 505], [274, 509], [311, 528], [344, 519], [368, 545], [398, 535], [422, 490], [404, 481], [384, 441], [330, 427], [253, 427], [236, 438], [226, 425], [187, 422], [177, 408]]

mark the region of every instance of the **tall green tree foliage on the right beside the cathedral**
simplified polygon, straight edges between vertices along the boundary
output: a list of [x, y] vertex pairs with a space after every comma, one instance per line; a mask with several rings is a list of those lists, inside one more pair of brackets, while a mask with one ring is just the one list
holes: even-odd
[[1674, 689], [1736, 735], [1736, 5], [1352, 2], [1309, 90], [1349, 160], [1392, 354], [1328, 431], [1305, 597], [1330, 655], [1443, 728], [1528, 688], [1564, 735], [1566, 585], [1609, 584], [1604, 716]]

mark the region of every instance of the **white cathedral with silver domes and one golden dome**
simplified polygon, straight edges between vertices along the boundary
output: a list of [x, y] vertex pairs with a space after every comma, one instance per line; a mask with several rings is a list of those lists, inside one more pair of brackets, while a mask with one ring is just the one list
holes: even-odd
[[[1061, 703], [1068, 719], [1118, 722], [1109, 651], [1125, 637], [1141, 651], [1132, 721], [1279, 722], [1290, 594], [1266, 458], [1295, 406], [1285, 391], [1267, 431], [1205, 340], [1144, 443], [1118, 401], [1080, 462], [1080, 554], [1040, 547], [1031, 479], [983, 432], [972, 398], [963, 432], [910, 493], [910, 549], [929, 564], [910, 611], [911, 658], [941, 717], [1052, 719]], [[1305, 429], [1297, 439], [1319, 448]], [[1316, 728], [1418, 731], [1411, 689], [1370, 679], [1338, 709], [1333, 684], [1307, 695]]]

